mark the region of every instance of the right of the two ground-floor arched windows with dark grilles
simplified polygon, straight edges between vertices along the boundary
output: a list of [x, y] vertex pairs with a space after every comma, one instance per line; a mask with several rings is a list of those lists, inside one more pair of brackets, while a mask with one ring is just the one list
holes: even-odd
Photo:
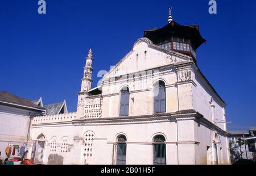
[[154, 165], [166, 165], [166, 139], [162, 135], [154, 137]]

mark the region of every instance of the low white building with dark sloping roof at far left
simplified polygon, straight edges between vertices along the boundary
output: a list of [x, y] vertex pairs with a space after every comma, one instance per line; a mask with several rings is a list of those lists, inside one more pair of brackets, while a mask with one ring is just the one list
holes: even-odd
[[[45, 111], [30, 100], [0, 91], [0, 160], [5, 160], [7, 146], [16, 146], [17, 149], [22, 145], [32, 147], [31, 119], [44, 114]], [[11, 156], [19, 157], [18, 150]]]

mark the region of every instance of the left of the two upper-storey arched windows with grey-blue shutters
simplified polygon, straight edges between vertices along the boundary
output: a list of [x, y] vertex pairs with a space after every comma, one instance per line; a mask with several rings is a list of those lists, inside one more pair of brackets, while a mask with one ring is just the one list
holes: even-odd
[[130, 98], [129, 88], [123, 87], [121, 90], [119, 116], [129, 115], [129, 98]]

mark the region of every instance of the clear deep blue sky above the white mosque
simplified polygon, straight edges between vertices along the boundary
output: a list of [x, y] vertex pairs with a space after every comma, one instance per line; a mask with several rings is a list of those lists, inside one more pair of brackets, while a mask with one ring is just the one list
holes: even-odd
[[93, 86], [99, 70], [109, 70], [148, 28], [167, 24], [168, 6], [180, 24], [198, 24], [207, 39], [197, 50], [199, 68], [228, 104], [228, 129], [256, 125], [255, 1], [208, 0], [84, 1], [1, 0], [0, 90], [44, 104], [66, 99], [76, 111], [84, 58], [94, 53]]

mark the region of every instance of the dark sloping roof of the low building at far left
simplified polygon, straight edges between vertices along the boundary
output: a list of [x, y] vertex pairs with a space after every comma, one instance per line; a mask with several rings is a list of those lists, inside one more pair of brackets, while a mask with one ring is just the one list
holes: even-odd
[[30, 100], [20, 98], [16, 95], [8, 93], [7, 91], [0, 91], [0, 101], [6, 102], [6, 103], [13, 103], [13, 104], [17, 104], [20, 106], [27, 106], [27, 107], [31, 107], [31, 108], [37, 108], [40, 110], [44, 110], [43, 107], [40, 107], [40, 106], [32, 103]]

